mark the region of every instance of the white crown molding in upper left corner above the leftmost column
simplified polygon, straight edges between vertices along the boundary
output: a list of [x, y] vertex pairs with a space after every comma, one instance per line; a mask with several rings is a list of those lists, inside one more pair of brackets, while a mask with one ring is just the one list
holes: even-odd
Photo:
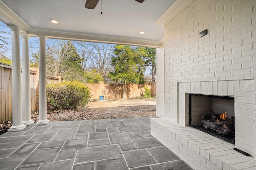
[[23, 32], [27, 32], [30, 29], [30, 26], [4, 4], [2, 0], [0, 0], [0, 20], [6, 25], [16, 25]]

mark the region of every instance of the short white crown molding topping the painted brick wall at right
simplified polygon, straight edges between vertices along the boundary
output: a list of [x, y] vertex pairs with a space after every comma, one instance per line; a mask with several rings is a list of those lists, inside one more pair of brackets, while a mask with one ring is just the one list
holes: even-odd
[[156, 25], [167, 25], [174, 17], [188, 7], [194, 0], [176, 0], [172, 6], [156, 21]]

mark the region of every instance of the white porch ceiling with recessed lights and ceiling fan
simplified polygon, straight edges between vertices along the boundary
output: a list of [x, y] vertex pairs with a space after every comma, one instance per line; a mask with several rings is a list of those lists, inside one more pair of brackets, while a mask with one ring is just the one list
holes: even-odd
[[[135, 0], [102, 0], [103, 15], [101, 0], [93, 10], [84, 8], [86, 0], [2, 2], [29, 25], [26, 31], [30, 34], [154, 46], [164, 37], [164, 27], [155, 23], [175, 0], [145, 0], [141, 4]], [[0, 19], [11, 24], [1, 15]], [[51, 19], [59, 23], [55, 25]]]

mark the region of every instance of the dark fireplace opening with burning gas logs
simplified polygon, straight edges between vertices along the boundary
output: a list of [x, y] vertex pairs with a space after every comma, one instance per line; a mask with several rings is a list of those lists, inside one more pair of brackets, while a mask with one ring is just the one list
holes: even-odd
[[189, 94], [189, 125], [235, 144], [234, 97]]

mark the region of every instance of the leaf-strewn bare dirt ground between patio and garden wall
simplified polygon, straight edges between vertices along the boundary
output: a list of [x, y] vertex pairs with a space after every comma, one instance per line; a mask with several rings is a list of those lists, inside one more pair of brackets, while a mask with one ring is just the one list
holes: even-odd
[[[74, 121], [90, 119], [116, 119], [127, 117], [156, 116], [156, 100], [149, 99], [116, 99], [97, 100], [88, 102], [85, 107], [77, 110], [48, 111], [47, 119], [50, 121]], [[31, 115], [31, 119], [38, 121], [38, 112]], [[12, 121], [0, 124], [1, 131], [7, 131]]]

